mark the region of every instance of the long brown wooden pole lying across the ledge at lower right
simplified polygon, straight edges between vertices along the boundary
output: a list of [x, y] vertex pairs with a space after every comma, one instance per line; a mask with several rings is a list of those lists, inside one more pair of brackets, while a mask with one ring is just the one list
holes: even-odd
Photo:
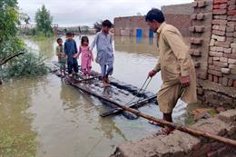
[[150, 115], [146, 115], [144, 113], [141, 113], [140, 111], [137, 111], [135, 109], [126, 107], [124, 105], [119, 105], [119, 104], [116, 104], [116, 105], [118, 107], [126, 110], [126, 111], [129, 111], [131, 113], [136, 114], [137, 116], [140, 116], [140, 117], [143, 117], [144, 119], [153, 121], [153, 122], [157, 123], [160, 126], [172, 127], [172, 128], [175, 128], [177, 130], [189, 133], [189, 134], [194, 135], [194, 136], [202, 136], [202, 137], [214, 139], [218, 142], [222, 142], [222, 143], [225, 143], [227, 145], [230, 145], [230, 146], [233, 146], [233, 147], [236, 148], [236, 140], [232, 140], [232, 139], [225, 138], [225, 137], [222, 137], [222, 136], [214, 135], [212, 133], [204, 132], [202, 130], [198, 130], [198, 129], [195, 129], [195, 128], [193, 129], [193, 128], [189, 128], [189, 127], [179, 126], [177, 124], [174, 124], [174, 123], [162, 120], [162, 119], [157, 119], [157, 118], [155, 118], [153, 116], [150, 116]]

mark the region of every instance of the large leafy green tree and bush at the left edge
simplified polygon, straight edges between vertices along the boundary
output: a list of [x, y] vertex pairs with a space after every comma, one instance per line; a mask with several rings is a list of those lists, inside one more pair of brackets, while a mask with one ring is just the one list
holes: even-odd
[[[17, 0], [0, 1], [0, 79], [45, 73], [41, 57], [29, 53], [18, 37], [20, 16]], [[27, 65], [28, 64], [28, 65]]]

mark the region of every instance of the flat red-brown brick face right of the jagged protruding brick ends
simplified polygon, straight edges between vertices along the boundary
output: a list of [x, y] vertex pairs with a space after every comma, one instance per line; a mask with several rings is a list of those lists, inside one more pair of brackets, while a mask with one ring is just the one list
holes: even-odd
[[213, 1], [208, 79], [236, 88], [236, 1]]

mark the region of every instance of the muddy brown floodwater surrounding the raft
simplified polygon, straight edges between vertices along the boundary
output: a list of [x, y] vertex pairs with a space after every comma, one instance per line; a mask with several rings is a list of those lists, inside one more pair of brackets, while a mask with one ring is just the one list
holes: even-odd
[[[93, 38], [89, 36], [90, 42]], [[79, 37], [75, 40], [79, 45]], [[33, 53], [46, 56], [48, 63], [57, 60], [55, 39], [25, 42]], [[149, 39], [115, 37], [113, 77], [140, 88], [157, 62], [155, 45]], [[99, 71], [99, 66], [93, 63], [93, 69]], [[158, 74], [147, 90], [156, 93], [160, 85]], [[98, 99], [66, 85], [54, 74], [5, 82], [0, 86], [0, 156], [108, 157], [115, 146], [159, 129], [142, 118], [102, 118], [99, 114], [103, 107]], [[176, 122], [184, 122], [185, 110], [186, 106], [179, 102], [174, 111]], [[154, 103], [140, 111], [161, 118]]]

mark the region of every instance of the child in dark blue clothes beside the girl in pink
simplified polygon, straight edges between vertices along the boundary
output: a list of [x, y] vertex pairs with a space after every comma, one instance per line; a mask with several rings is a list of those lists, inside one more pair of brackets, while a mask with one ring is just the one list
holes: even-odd
[[74, 34], [71, 32], [66, 33], [66, 42], [64, 44], [64, 52], [67, 55], [67, 65], [69, 77], [72, 77], [72, 71], [78, 73], [78, 62], [75, 54], [78, 53], [76, 42], [73, 39]]

